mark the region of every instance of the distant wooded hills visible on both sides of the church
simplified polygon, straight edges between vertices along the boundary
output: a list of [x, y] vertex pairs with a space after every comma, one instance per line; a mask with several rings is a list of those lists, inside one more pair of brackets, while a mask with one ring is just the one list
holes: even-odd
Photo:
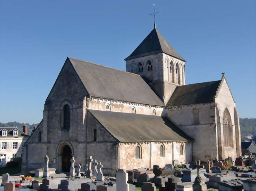
[[[28, 126], [28, 134], [30, 135], [33, 127], [37, 126], [38, 124], [32, 124], [26, 123]], [[8, 122], [6, 124], [0, 123], [0, 127], [18, 127], [21, 131], [23, 131], [24, 123], [19, 122]], [[241, 126], [241, 136], [244, 135], [254, 135], [256, 136], [256, 118], [240, 118], [240, 126]]]

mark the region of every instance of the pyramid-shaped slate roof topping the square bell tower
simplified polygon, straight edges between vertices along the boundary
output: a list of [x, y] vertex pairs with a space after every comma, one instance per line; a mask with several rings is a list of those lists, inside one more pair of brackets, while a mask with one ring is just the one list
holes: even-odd
[[141, 42], [141, 44], [132, 52], [130, 56], [124, 60], [138, 58], [141, 56], [153, 55], [157, 53], [166, 53], [180, 60], [186, 61], [180, 56], [176, 50], [163, 38], [161, 33], [154, 27], [149, 35]]

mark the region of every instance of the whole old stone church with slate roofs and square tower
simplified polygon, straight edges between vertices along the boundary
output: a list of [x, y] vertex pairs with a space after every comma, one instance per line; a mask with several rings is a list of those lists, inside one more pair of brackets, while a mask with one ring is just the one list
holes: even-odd
[[154, 29], [126, 71], [68, 57], [24, 144], [22, 171], [93, 156], [104, 174], [241, 155], [236, 103], [221, 80], [186, 85], [186, 60]]

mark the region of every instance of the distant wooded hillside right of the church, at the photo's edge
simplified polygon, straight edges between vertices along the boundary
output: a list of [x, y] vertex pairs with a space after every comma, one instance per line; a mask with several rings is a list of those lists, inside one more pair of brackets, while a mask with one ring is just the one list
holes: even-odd
[[241, 126], [241, 135], [256, 136], [256, 118], [239, 118]]

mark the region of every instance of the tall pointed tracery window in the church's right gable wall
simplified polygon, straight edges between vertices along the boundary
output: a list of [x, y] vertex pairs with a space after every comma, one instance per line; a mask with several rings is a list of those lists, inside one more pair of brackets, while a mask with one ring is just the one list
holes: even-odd
[[233, 147], [233, 132], [232, 132], [231, 117], [227, 108], [223, 113], [222, 121], [223, 121], [224, 147]]

